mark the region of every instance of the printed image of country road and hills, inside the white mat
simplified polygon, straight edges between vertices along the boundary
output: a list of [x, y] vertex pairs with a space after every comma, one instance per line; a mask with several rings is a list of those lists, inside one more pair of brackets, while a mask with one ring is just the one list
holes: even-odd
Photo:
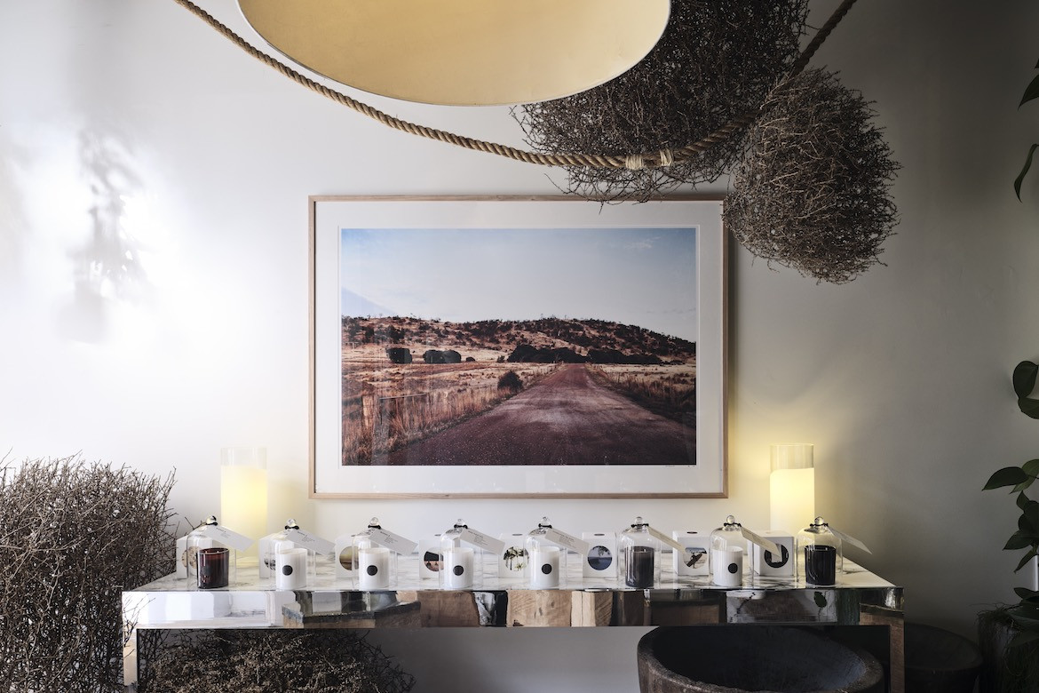
[[342, 464], [696, 463], [691, 229], [343, 229]]

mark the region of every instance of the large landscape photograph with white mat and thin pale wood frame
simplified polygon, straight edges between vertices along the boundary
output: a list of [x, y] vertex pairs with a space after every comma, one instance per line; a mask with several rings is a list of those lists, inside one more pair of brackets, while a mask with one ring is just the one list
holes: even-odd
[[721, 211], [311, 197], [311, 497], [724, 498]]

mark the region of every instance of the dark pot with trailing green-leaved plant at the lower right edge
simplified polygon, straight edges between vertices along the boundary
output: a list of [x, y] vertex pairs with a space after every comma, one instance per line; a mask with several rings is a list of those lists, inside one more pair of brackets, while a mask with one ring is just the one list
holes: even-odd
[[[1039, 399], [1032, 397], [1039, 366], [1022, 361], [1014, 369], [1014, 393], [1017, 406], [1032, 419], [1039, 419]], [[1017, 572], [1039, 555], [1039, 501], [1028, 489], [1039, 478], [1039, 459], [1020, 467], [1005, 467], [988, 479], [985, 489], [1010, 488], [1020, 510], [1017, 530], [1004, 550], [1028, 550], [1014, 568]], [[1015, 605], [1001, 607], [979, 615], [979, 644], [985, 657], [982, 671], [984, 691], [1039, 690], [1039, 591], [1015, 587]]]

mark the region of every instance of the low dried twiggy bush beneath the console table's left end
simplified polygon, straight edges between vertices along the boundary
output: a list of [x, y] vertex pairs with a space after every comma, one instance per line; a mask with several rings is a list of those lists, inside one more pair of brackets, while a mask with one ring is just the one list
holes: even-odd
[[165, 647], [141, 683], [144, 693], [404, 693], [415, 677], [355, 631], [208, 631]]

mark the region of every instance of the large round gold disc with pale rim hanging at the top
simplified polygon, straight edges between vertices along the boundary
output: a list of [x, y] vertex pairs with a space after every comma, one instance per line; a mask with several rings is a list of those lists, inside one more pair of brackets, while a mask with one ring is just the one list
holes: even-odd
[[584, 91], [657, 44], [669, 0], [239, 0], [290, 59], [404, 101], [522, 104]]

